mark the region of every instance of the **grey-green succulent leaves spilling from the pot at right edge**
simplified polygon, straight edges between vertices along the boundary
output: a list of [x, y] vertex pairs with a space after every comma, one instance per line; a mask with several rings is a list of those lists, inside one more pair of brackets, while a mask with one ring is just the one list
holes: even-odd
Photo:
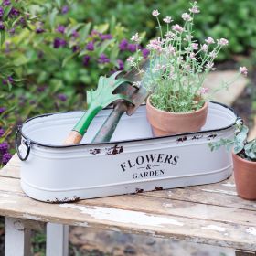
[[225, 146], [227, 150], [233, 147], [235, 154], [240, 155], [240, 157], [246, 160], [256, 162], [256, 138], [248, 142], [248, 132], [248, 127], [239, 120], [237, 122], [237, 131], [232, 140], [220, 139], [218, 142], [209, 143], [208, 145], [211, 151], [217, 150], [221, 146]]

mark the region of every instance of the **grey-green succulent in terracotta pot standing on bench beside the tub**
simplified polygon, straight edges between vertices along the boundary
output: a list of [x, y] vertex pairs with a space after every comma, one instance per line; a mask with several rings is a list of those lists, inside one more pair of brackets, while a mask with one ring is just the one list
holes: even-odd
[[238, 195], [249, 200], [256, 200], [256, 138], [247, 141], [248, 127], [237, 122], [237, 131], [232, 140], [221, 139], [210, 143], [210, 149], [216, 150], [220, 146], [227, 149], [233, 147], [232, 158], [234, 176]]

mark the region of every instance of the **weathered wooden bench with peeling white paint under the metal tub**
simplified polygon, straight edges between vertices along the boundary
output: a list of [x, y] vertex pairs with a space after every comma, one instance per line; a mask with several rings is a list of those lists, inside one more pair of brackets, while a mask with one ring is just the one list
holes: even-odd
[[27, 197], [15, 155], [0, 171], [5, 256], [30, 254], [30, 230], [47, 223], [47, 255], [68, 255], [69, 225], [139, 233], [256, 255], [256, 201], [237, 197], [233, 178], [212, 185], [48, 204]]

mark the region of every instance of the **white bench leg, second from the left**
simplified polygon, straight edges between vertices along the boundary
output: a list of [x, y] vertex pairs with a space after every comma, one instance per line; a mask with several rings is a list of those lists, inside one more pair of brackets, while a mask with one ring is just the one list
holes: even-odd
[[69, 225], [47, 224], [47, 256], [68, 256]]

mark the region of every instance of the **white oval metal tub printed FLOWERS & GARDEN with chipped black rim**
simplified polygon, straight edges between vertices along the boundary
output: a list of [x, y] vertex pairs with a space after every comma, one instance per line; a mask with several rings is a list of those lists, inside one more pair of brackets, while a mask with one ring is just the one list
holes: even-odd
[[[91, 144], [110, 109], [100, 112], [80, 145], [62, 142], [83, 112], [45, 114], [23, 123], [19, 154], [21, 187], [47, 202], [106, 197], [219, 182], [232, 172], [231, 154], [208, 143], [231, 138], [237, 115], [209, 102], [202, 131], [153, 137], [145, 106], [123, 115], [112, 141]], [[27, 149], [30, 152], [27, 154]]]

